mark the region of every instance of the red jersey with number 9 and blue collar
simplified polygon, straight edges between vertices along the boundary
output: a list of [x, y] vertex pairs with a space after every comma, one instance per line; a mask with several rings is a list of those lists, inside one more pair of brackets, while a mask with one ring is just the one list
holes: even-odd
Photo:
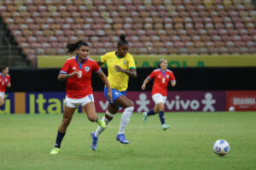
[[77, 56], [75, 56], [66, 60], [60, 73], [70, 74], [76, 70], [79, 71], [79, 74], [69, 77], [66, 85], [67, 97], [72, 99], [80, 99], [92, 94], [93, 90], [90, 81], [91, 73], [99, 73], [102, 71], [96, 61], [86, 58], [79, 63]]

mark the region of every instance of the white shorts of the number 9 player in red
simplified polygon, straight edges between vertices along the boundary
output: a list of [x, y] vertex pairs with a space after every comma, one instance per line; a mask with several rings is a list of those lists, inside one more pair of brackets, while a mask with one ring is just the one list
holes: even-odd
[[94, 102], [93, 94], [89, 94], [81, 99], [71, 99], [66, 96], [65, 105], [71, 108], [77, 108], [79, 105], [84, 106], [90, 102]]

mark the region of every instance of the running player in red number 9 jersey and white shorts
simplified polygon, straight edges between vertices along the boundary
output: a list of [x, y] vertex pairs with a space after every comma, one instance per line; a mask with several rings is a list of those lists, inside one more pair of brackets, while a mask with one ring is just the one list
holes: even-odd
[[67, 59], [58, 76], [59, 81], [67, 80], [65, 107], [61, 126], [58, 129], [55, 148], [50, 154], [58, 154], [61, 148], [61, 141], [67, 131], [67, 126], [72, 120], [73, 113], [81, 105], [91, 122], [96, 122], [100, 127], [105, 128], [106, 124], [96, 115], [93, 90], [91, 88], [91, 74], [96, 73], [107, 86], [107, 97], [112, 101], [112, 89], [102, 69], [96, 61], [88, 57], [89, 46], [86, 42], [67, 43], [68, 52], [76, 52], [76, 56]]

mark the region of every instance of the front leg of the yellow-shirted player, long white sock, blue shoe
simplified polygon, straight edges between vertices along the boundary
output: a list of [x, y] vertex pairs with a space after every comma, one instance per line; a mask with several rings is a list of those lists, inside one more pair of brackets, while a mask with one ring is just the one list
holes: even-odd
[[116, 139], [119, 140], [120, 143], [129, 144], [128, 140], [125, 139], [125, 127], [130, 122], [131, 114], [134, 110], [133, 102], [125, 97], [125, 95], [122, 95], [114, 101], [114, 105], [119, 105], [120, 107], [125, 109], [123, 115], [121, 116], [119, 133]]

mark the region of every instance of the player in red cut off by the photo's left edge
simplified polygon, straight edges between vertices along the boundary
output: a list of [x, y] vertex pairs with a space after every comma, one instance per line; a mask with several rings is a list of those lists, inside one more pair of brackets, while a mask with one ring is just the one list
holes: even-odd
[[0, 73], [0, 108], [4, 105], [4, 93], [6, 88], [11, 87], [10, 76], [9, 76], [9, 67], [3, 66]]

